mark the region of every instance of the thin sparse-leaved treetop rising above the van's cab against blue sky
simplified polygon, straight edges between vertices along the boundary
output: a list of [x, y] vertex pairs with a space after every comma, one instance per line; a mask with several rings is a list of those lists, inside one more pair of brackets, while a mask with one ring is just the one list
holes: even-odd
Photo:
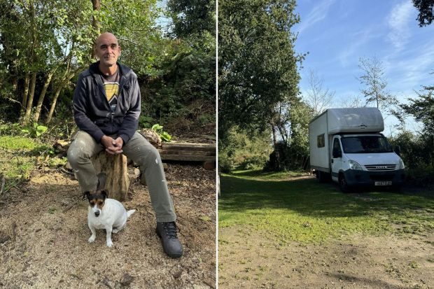
[[384, 66], [379, 59], [360, 58], [359, 65], [362, 75], [358, 78], [364, 87], [360, 90], [366, 98], [366, 104], [374, 102], [380, 110], [390, 110], [391, 105], [398, 104], [396, 98], [387, 90], [387, 80], [384, 76]]

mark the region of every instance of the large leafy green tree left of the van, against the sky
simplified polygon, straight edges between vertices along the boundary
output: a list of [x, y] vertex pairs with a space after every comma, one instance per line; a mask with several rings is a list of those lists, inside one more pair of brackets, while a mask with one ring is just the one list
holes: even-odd
[[295, 1], [222, 0], [219, 6], [219, 136], [232, 125], [264, 129], [276, 104], [297, 95], [290, 30], [300, 18]]

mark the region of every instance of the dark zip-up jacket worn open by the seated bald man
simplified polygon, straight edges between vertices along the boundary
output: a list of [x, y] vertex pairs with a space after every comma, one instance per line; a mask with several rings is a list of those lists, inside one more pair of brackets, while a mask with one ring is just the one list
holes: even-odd
[[137, 130], [140, 115], [140, 90], [137, 75], [129, 67], [118, 64], [120, 69], [118, 106], [111, 113], [104, 91], [99, 62], [91, 64], [78, 76], [73, 94], [73, 112], [79, 129], [96, 141], [104, 135], [120, 136], [124, 144]]

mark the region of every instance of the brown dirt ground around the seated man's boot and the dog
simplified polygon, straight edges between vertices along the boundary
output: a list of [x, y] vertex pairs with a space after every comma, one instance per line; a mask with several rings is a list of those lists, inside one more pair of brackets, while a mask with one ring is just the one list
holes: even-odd
[[184, 255], [167, 257], [155, 233], [147, 189], [130, 186], [137, 212], [113, 234], [87, 243], [87, 201], [78, 182], [58, 170], [36, 171], [0, 199], [0, 288], [215, 288], [216, 171], [169, 164]]

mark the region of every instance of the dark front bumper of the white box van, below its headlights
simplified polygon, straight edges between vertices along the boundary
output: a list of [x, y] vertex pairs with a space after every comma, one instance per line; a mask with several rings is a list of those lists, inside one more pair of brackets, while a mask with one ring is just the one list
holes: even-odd
[[348, 185], [375, 185], [379, 181], [391, 181], [392, 186], [402, 185], [405, 181], [405, 170], [395, 171], [359, 171], [348, 169], [344, 171], [346, 183]]

